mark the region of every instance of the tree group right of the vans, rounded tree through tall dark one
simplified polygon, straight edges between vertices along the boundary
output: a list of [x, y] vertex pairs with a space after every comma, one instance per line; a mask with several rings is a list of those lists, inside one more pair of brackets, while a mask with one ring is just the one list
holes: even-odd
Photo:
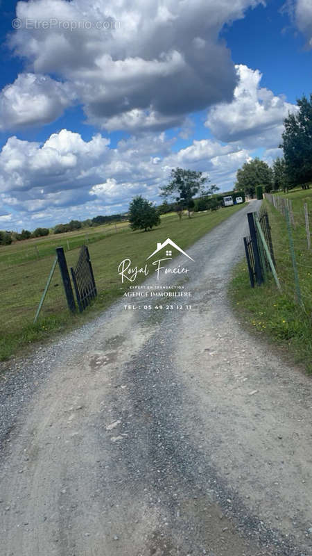
[[309, 189], [312, 182], [312, 94], [297, 100], [298, 110], [284, 120], [283, 142], [279, 147], [284, 156], [277, 157], [270, 167], [259, 158], [246, 162], [236, 174], [235, 189], [254, 197], [257, 186], [266, 193], [288, 191], [297, 186]]

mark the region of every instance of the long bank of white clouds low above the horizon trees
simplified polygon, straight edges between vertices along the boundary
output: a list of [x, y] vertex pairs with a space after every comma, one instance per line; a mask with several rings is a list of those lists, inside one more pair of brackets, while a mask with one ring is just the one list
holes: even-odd
[[228, 188], [249, 156], [237, 145], [208, 139], [173, 152], [174, 142], [164, 132], [149, 133], [111, 148], [100, 134], [85, 141], [66, 129], [43, 144], [10, 137], [0, 152], [1, 205], [26, 227], [33, 220], [52, 225], [92, 218], [127, 210], [137, 194], [159, 202], [159, 188], [177, 166], [207, 172]]

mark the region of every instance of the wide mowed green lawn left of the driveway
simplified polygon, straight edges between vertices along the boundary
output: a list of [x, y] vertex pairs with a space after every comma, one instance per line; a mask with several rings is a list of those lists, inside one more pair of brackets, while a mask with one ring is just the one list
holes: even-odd
[[[18, 246], [4, 247], [5, 256], [8, 257], [8, 260], [11, 257], [12, 263], [1, 263], [0, 360], [8, 359], [12, 354], [34, 341], [51, 338], [52, 333], [64, 332], [66, 329], [77, 326], [109, 306], [125, 290], [117, 272], [119, 263], [123, 259], [131, 259], [135, 265], [144, 266], [146, 257], [155, 250], [157, 242], [162, 242], [168, 237], [185, 249], [243, 206], [245, 205], [220, 208], [216, 212], [197, 213], [191, 219], [184, 216], [181, 221], [177, 215], [166, 215], [162, 218], [159, 227], [148, 232], [133, 232], [123, 224], [123, 230], [119, 233], [112, 231], [101, 240], [94, 240], [94, 243], [89, 243], [89, 252], [98, 288], [98, 297], [92, 306], [82, 315], [73, 316], [69, 313], [57, 265], [42, 313], [36, 324], [33, 324], [33, 319], [55, 259], [55, 247], [64, 245], [66, 252], [67, 239], [70, 244], [77, 242], [77, 247], [85, 244], [85, 231], [76, 236], [74, 233], [60, 234], [64, 237], [52, 236], [49, 238], [48, 236], [45, 241], [38, 240], [42, 252], [46, 245], [46, 250], [51, 250], [53, 254], [40, 256], [40, 259], [35, 256], [31, 261], [24, 259], [24, 262], [21, 263], [18, 263], [15, 257], [22, 256], [22, 244], [24, 244], [24, 251], [27, 252], [33, 246], [34, 240], [20, 242]], [[0, 249], [1, 252], [2, 249]], [[78, 252], [78, 249], [66, 252], [69, 266], [76, 262]], [[136, 283], [143, 279], [144, 276], [140, 275]]]

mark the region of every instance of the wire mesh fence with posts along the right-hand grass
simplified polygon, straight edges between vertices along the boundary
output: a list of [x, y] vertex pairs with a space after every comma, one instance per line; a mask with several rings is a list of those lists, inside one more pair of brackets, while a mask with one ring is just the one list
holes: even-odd
[[281, 290], [312, 316], [312, 198], [265, 198]]

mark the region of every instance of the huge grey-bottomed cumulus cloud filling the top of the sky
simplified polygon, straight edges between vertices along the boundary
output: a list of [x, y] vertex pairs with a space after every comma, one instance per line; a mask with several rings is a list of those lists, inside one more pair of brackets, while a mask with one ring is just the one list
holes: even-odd
[[[10, 45], [42, 77], [33, 84], [38, 97], [33, 115], [23, 78], [9, 86], [12, 95], [19, 92], [22, 106], [17, 99], [6, 122], [51, 121], [69, 99], [78, 99], [89, 122], [102, 129], [159, 130], [181, 124], [192, 111], [230, 101], [236, 73], [218, 35], [225, 24], [259, 3], [262, 0], [19, 1], [22, 26], [12, 33]], [[48, 79], [43, 76], [49, 74], [58, 76], [62, 85], [43, 85]]]

